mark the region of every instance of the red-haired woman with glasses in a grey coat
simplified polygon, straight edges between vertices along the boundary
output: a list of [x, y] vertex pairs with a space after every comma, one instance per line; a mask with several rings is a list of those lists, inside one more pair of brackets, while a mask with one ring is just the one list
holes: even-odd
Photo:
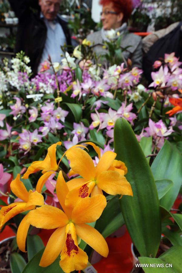
[[[94, 42], [94, 50], [98, 55], [103, 55], [103, 53], [106, 53], [102, 47], [103, 41], [108, 41], [108, 31], [114, 29], [115, 32], [122, 35], [121, 48], [127, 47], [126, 51], [123, 51], [123, 57], [126, 60], [131, 59], [132, 67], [141, 68], [141, 38], [127, 31], [126, 22], [132, 12], [132, 0], [100, 0], [99, 4], [103, 7], [100, 14], [103, 27], [100, 31], [89, 34], [86, 39]], [[112, 39], [116, 39], [116, 37]]]

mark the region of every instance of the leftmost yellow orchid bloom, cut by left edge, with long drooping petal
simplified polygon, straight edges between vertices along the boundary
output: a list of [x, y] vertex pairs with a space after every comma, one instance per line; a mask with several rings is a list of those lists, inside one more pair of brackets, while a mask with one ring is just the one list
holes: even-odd
[[[19, 197], [22, 202], [14, 202], [8, 206], [2, 207], [0, 210], [0, 229], [9, 219], [15, 215], [23, 212], [34, 210], [36, 206], [42, 206], [44, 204], [44, 197], [40, 194], [43, 184], [54, 172], [47, 172], [42, 175], [37, 183], [36, 191], [26, 190], [24, 184], [20, 180], [20, 174], [17, 174], [16, 178], [12, 180], [10, 188], [12, 192]], [[29, 213], [28, 213], [29, 214]], [[19, 224], [16, 241], [19, 249], [25, 252], [25, 241], [30, 224], [27, 223], [28, 214], [23, 218]]]

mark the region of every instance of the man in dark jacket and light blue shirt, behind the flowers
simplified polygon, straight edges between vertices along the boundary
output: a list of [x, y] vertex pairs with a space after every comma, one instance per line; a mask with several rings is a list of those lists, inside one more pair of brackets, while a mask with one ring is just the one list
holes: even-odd
[[58, 15], [61, 0], [9, 2], [19, 18], [15, 52], [23, 50], [29, 56], [34, 74], [49, 55], [52, 62], [60, 62], [61, 46], [71, 45], [67, 23]]

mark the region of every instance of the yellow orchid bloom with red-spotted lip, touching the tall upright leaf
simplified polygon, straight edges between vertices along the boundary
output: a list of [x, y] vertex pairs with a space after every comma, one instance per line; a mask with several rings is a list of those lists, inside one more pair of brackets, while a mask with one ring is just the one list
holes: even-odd
[[124, 177], [127, 168], [122, 161], [115, 160], [116, 153], [107, 151], [100, 157], [97, 166], [94, 166], [89, 154], [80, 148], [70, 148], [66, 152], [72, 172], [83, 178], [75, 178], [67, 182], [69, 193], [66, 198], [67, 206], [74, 206], [79, 198], [91, 194], [131, 195], [130, 183]]

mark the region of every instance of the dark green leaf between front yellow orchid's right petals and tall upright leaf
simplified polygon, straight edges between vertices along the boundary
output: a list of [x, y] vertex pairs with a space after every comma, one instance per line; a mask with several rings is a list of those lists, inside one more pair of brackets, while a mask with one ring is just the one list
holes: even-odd
[[120, 227], [124, 225], [124, 218], [123, 214], [120, 212], [116, 215], [105, 227], [105, 229], [102, 232], [102, 236], [104, 238], [108, 237], [110, 234], [118, 230]]

